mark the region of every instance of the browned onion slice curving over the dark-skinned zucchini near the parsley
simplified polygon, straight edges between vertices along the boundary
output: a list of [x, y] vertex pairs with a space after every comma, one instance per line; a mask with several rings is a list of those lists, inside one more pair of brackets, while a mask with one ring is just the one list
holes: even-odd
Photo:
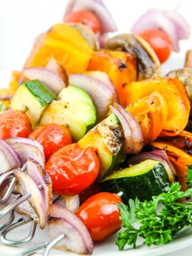
[[175, 175], [177, 175], [177, 172], [175, 171], [174, 166], [169, 161], [169, 158], [165, 150], [154, 149], [149, 152], [143, 151], [139, 154], [130, 156], [127, 159], [127, 162], [128, 164], [134, 165], [134, 164], [139, 164], [140, 162], [145, 161], [146, 159], [152, 159], [162, 163], [163, 166], [165, 167], [165, 170], [167, 172], [170, 182], [172, 183], [175, 180]]

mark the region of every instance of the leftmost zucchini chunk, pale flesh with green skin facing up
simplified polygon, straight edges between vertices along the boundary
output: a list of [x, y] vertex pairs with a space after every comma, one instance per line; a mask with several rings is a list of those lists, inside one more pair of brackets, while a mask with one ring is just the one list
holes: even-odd
[[57, 96], [38, 79], [23, 83], [13, 96], [10, 108], [24, 110], [33, 129], [46, 106]]

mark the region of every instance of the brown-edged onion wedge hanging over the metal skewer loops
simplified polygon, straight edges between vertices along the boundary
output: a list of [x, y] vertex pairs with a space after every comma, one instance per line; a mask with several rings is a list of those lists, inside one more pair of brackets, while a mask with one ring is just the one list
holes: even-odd
[[16, 170], [14, 177], [16, 178], [15, 188], [17, 192], [22, 196], [30, 193], [29, 199], [21, 203], [15, 210], [21, 214], [29, 215], [43, 229], [46, 225], [47, 214], [45, 214], [44, 198], [41, 191], [27, 173]]

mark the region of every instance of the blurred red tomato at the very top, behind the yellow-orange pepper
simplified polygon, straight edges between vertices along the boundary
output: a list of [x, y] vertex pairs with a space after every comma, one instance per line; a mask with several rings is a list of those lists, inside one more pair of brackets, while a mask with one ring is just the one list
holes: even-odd
[[89, 10], [70, 12], [64, 17], [63, 22], [82, 23], [83, 25], [92, 29], [95, 34], [101, 30], [100, 20], [93, 12]]

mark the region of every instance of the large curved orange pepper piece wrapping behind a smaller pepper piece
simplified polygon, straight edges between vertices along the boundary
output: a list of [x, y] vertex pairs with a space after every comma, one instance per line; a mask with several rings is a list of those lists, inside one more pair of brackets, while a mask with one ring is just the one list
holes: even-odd
[[163, 95], [168, 114], [160, 137], [174, 136], [185, 129], [190, 111], [190, 101], [185, 86], [177, 77], [157, 77], [125, 86], [127, 105], [145, 97], [153, 91]]

